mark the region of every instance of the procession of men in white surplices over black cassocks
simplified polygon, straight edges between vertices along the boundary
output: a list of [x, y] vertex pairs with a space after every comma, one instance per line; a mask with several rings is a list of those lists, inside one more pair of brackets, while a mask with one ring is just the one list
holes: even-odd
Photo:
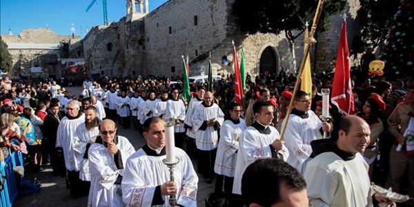
[[[332, 155], [326, 154], [325, 157], [317, 157], [315, 161], [308, 163], [312, 154], [311, 141], [322, 138], [321, 128], [330, 132], [331, 127], [324, 127], [322, 121], [308, 109], [311, 102], [307, 95], [299, 92], [297, 97], [293, 97], [295, 108], [284, 135], [285, 146], [279, 141], [278, 130], [272, 126], [275, 112], [269, 101], [253, 102], [253, 106], [250, 107], [255, 121], [246, 127], [244, 119], [240, 118], [240, 106], [230, 108], [230, 116], [232, 112], [237, 112], [239, 117], [228, 117], [224, 121], [224, 112], [214, 103], [212, 92], [204, 94], [205, 90], [200, 88], [198, 96], [190, 101], [187, 109], [185, 102], [179, 99], [179, 90], [174, 89], [171, 92], [171, 99], [167, 98], [168, 94], [156, 99], [155, 92], [150, 92], [146, 101], [139, 97], [137, 92], [131, 99], [124, 91], [121, 92], [121, 96], [113, 88], [106, 92], [108, 107], [115, 112], [108, 118], [111, 117], [115, 121], [118, 115], [125, 120], [130, 119], [132, 115], [144, 124], [144, 138], [147, 144], [138, 151], [135, 151], [126, 137], [117, 135], [115, 122], [110, 122], [109, 119], [101, 122], [100, 129], [98, 126], [86, 127], [89, 111], [94, 112], [100, 119], [99, 110], [102, 110], [103, 104], [96, 100], [96, 97], [92, 96], [95, 98], [95, 101], [92, 101], [95, 110], [87, 109], [87, 117], [79, 112], [79, 105], [75, 104], [75, 101], [67, 103], [68, 116], [59, 124], [56, 146], [63, 148], [68, 177], [70, 183], [75, 184], [71, 188], [76, 190], [77, 187], [77, 182], [73, 180], [74, 173], [79, 173], [79, 179], [90, 181], [88, 206], [170, 206], [170, 195], [177, 195], [177, 204], [181, 206], [197, 206], [197, 173], [186, 152], [180, 149], [184, 146], [186, 132], [190, 139], [191, 136], [195, 139], [198, 172], [206, 182], [211, 181], [214, 172], [217, 173], [216, 192], [233, 191], [235, 194], [241, 194], [244, 170], [255, 160], [266, 157], [286, 161], [305, 175], [310, 186], [316, 186], [317, 183], [325, 186], [329, 186], [330, 182], [346, 183], [343, 180], [329, 181], [326, 177], [318, 177], [318, 173], [326, 170], [318, 168], [317, 165], [320, 164], [337, 163], [337, 168], [351, 169], [349, 172], [354, 173], [351, 175], [354, 179], [366, 179], [366, 166], [362, 159], [359, 159], [358, 153], [348, 159], [345, 155], [335, 157], [333, 152]], [[78, 112], [74, 113], [76, 109]], [[164, 136], [164, 125], [159, 117], [164, 115], [173, 117], [176, 121], [175, 155], [179, 159], [179, 164], [175, 167], [174, 183], [169, 181], [170, 172], [163, 163], [166, 149], [160, 140]], [[124, 120], [121, 124], [125, 123]], [[324, 161], [321, 161], [322, 158]], [[306, 166], [309, 167], [308, 170]], [[319, 172], [317, 169], [322, 171]], [[233, 179], [226, 181], [227, 177]], [[233, 189], [228, 190], [226, 183], [232, 182], [230, 187]], [[353, 180], [352, 185], [346, 187], [345, 184], [341, 188], [343, 190], [334, 195], [332, 190], [313, 189], [310, 191], [312, 194], [309, 194], [310, 200], [316, 206], [319, 205], [320, 199], [324, 203], [330, 199], [331, 204], [339, 205], [343, 204], [342, 201], [346, 197], [348, 201], [360, 204], [366, 199], [367, 193], [371, 194], [366, 182], [355, 183]], [[357, 190], [353, 192], [344, 190], [355, 186]], [[326, 187], [332, 188], [334, 186]], [[362, 188], [362, 191], [358, 191]], [[312, 199], [312, 196], [322, 198]], [[371, 202], [367, 200], [366, 204], [369, 206]]]

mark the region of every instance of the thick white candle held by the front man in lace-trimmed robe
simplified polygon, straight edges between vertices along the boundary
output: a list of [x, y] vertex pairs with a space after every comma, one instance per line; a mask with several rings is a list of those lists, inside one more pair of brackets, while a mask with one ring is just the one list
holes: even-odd
[[166, 127], [166, 162], [174, 163], [175, 160], [175, 141], [174, 141], [174, 125], [175, 119], [172, 116], [164, 115], [164, 126]]

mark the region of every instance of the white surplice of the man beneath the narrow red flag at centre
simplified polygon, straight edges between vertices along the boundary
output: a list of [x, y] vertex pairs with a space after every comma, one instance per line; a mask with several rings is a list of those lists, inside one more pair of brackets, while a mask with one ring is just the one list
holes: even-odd
[[239, 136], [245, 128], [246, 123], [241, 118], [239, 118], [239, 123], [233, 120], [223, 122], [223, 126], [220, 128], [220, 140], [214, 166], [214, 171], [217, 174], [235, 177]]

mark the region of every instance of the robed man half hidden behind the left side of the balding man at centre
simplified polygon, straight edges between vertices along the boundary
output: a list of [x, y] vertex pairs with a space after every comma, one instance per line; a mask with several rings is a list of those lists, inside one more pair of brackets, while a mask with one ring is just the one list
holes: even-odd
[[199, 106], [201, 102], [203, 102], [204, 93], [206, 89], [199, 88], [197, 91], [197, 96], [191, 99], [190, 103], [188, 103], [188, 110], [186, 114], [186, 118], [184, 118], [184, 128], [187, 129], [186, 135], [187, 139], [187, 150], [186, 152], [190, 157], [195, 155], [195, 130], [193, 128], [193, 113], [194, 110]]

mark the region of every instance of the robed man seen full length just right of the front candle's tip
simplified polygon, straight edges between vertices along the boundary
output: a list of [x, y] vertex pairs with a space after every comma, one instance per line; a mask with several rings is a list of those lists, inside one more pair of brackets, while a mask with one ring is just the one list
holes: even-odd
[[186, 128], [184, 128], [184, 119], [186, 118], [186, 106], [184, 101], [179, 99], [178, 89], [171, 92], [172, 99], [167, 101], [166, 116], [172, 116], [175, 119], [174, 139], [177, 148], [184, 148], [184, 139], [186, 138]]

